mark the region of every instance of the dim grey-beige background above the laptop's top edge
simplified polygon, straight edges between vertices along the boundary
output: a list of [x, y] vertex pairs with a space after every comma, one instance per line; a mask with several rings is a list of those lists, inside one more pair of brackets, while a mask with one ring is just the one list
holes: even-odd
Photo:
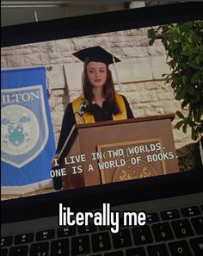
[[2, 1], [1, 26], [145, 6], [145, 1]]

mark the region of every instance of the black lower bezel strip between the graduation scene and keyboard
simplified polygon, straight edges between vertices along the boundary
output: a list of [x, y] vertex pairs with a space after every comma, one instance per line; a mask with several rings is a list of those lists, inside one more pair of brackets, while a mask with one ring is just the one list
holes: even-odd
[[2, 223], [58, 215], [59, 203], [70, 206], [74, 211], [83, 211], [100, 209], [102, 203], [115, 206], [199, 193], [203, 191], [202, 180], [203, 172], [194, 170], [9, 199], [2, 202]]

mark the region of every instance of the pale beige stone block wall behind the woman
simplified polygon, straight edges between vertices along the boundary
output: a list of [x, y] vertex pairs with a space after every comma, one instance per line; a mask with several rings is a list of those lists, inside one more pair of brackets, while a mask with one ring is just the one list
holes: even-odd
[[[117, 64], [121, 93], [129, 101], [134, 116], [154, 116], [175, 113], [181, 109], [175, 101], [169, 84], [162, 74], [169, 73], [166, 53], [161, 42], [149, 46], [147, 28], [108, 34], [96, 34], [73, 39], [47, 41], [2, 49], [2, 68], [46, 66], [49, 103], [56, 143], [65, 106], [81, 91], [83, 64], [72, 53], [84, 47], [101, 46], [114, 53], [121, 62]], [[114, 76], [114, 71], [113, 71]], [[114, 83], [117, 81], [114, 77]], [[118, 88], [118, 85], [115, 85]], [[178, 122], [177, 117], [173, 125]], [[191, 141], [190, 134], [173, 129], [175, 147]]]

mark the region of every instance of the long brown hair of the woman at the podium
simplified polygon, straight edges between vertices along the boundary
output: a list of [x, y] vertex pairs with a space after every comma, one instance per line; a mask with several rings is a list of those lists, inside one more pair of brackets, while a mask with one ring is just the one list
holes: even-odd
[[[112, 73], [109, 70], [108, 65], [106, 65], [106, 67], [107, 67], [107, 80], [103, 85], [103, 96], [108, 102], [109, 110], [116, 115], [120, 113], [120, 107], [116, 102], [116, 98], [115, 98], [115, 90], [114, 90]], [[83, 68], [82, 85], [83, 85], [83, 97], [89, 101], [89, 107], [87, 108], [87, 111], [91, 114], [93, 92], [92, 92], [92, 84], [90, 84], [89, 78], [88, 78], [86, 63], [84, 63], [84, 68]]]

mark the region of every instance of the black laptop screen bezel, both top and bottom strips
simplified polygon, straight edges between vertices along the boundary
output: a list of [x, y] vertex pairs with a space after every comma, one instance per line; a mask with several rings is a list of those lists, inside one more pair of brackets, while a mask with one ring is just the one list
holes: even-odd
[[[202, 3], [175, 3], [3, 27], [2, 47], [194, 21], [202, 19], [202, 9]], [[203, 190], [202, 180], [203, 172], [194, 170], [9, 199], [2, 202], [2, 222], [58, 215], [58, 203], [68, 203], [74, 209], [92, 209], [107, 202], [116, 205], [200, 192]]]

